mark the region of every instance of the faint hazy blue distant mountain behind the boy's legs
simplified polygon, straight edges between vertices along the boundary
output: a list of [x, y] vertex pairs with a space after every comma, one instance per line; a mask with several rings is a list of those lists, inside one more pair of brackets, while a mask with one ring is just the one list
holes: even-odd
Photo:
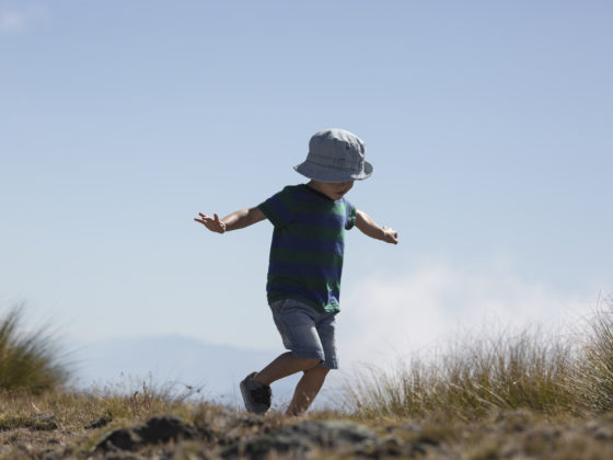
[[[201, 389], [207, 399], [242, 405], [240, 381], [273, 360], [279, 350], [250, 350], [212, 345], [181, 335], [116, 338], [79, 344], [73, 349], [78, 389], [109, 388], [119, 392], [158, 389], [186, 393]], [[275, 401], [287, 403], [300, 376], [273, 384]]]

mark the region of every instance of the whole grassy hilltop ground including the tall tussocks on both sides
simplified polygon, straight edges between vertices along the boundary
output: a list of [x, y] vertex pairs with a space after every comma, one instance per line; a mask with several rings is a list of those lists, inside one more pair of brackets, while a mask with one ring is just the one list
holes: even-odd
[[[15, 323], [10, 313], [9, 324]], [[4, 321], [7, 323], [7, 321]], [[24, 343], [5, 327], [3, 349]], [[466, 337], [394, 371], [370, 369], [343, 409], [255, 416], [144, 383], [127, 394], [74, 393], [66, 371], [46, 386], [14, 379], [0, 392], [1, 458], [428, 458], [609, 459], [613, 456], [613, 309], [576, 336], [539, 329]], [[36, 335], [44, 337], [44, 335]], [[34, 342], [33, 342], [34, 341]], [[53, 349], [53, 347], [46, 348]], [[5, 360], [2, 369], [14, 369]], [[20, 358], [20, 363], [34, 363]], [[16, 363], [16, 361], [15, 361]], [[45, 363], [45, 359], [43, 359]], [[19, 366], [18, 366], [19, 367]], [[13, 371], [13, 375], [19, 372]], [[56, 373], [54, 373], [56, 372]], [[7, 380], [8, 381], [8, 380]], [[34, 381], [34, 380], [33, 380]]]

